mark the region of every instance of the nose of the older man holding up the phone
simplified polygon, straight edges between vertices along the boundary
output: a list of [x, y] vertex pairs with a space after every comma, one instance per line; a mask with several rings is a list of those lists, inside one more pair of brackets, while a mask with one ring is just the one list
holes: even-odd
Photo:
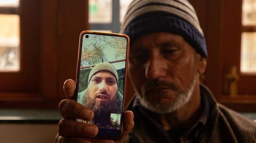
[[154, 52], [146, 65], [145, 76], [155, 80], [166, 76], [167, 70], [166, 60], [158, 52]]

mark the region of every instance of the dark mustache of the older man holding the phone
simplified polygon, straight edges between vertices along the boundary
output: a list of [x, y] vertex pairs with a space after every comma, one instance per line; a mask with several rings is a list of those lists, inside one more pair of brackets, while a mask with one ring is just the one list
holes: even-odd
[[161, 90], [161, 89], [171, 89], [173, 91], [180, 91], [178, 86], [173, 82], [167, 82], [159, 79], [146, 82], [142, 88], [142, 90], [145, 91], [145, 94], [148, 94], [152, 91]]

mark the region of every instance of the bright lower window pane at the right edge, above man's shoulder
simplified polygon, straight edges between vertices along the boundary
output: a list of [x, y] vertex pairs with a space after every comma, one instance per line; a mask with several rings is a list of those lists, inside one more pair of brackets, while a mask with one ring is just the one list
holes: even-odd
[[241, 67], [242, 73], [256, 73], [256, 32], [242, 33]]

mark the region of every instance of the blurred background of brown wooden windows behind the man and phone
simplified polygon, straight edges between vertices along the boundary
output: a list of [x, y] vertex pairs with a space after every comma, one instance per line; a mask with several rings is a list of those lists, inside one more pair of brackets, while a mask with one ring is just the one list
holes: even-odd
[[[201, 82], [256, 119], [256, 0], [189, 0], [209, 52]], [[52, 143], [82, 30], [118, 33], [131, 0], [0, 0], [1, 143]], [[128, 82], [127, 99], [133, 96]]]

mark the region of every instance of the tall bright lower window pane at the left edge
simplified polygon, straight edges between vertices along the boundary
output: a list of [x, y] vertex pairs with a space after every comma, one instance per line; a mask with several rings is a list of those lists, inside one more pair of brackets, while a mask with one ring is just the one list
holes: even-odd
[[19, 70], [19, 15], [0, 14], [0, 71]]

